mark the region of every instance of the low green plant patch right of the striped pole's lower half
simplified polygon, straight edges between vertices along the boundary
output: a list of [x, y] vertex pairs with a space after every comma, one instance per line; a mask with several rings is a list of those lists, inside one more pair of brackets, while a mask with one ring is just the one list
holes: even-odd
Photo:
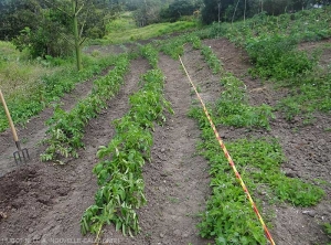
[[[241, 139], [227, 145], [234, 160], [256, 183], [269, 184], [270, 192], [280, 201], [297, 206], [316, 205], [324, 195], [322, 189], [300, 179], [287, 178], [279, 169], [284, 156], [275, 139]], [[270, 201], [270, 200], [269, 200]]]

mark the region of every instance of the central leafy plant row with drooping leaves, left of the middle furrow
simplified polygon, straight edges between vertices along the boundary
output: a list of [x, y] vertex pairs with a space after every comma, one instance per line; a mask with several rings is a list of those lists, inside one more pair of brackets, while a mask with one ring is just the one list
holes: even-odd
[[[141, 53], [156, 66], [157, 51], [147, 45]], [[164, 113], [173, 113], [162, 95], [164, 76], [153, 67], [141, 77], [142, 87], [129, 96], [129, 111], [114, 121], [116, 135], [108, 146], [97, 151], [99, 162], [93, 172], [99, 189], [95, 204], [90, 205], [81, 220], [81, 231], [96, 234], [97, 241], [105, 224], [114, 223], [124, 235], [140, 231], [136, 209], [146, 203], [142, 167], [150, 161], [154, 122], [166, 120]]]

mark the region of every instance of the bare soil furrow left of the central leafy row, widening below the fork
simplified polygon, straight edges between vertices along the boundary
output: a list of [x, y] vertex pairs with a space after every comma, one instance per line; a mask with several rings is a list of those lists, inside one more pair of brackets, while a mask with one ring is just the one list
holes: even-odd
[[[146, 60], [131, 62], [119, 94], [86, 128], [86, 149], [78, 152], [78, 159], [64, 167], [35, 162], [1, 179], [1, 187], [7, 190], [0, 193], [0, 210], [9, 217], [0, 224], [0, 237], [22, 237], [30, 242], [44, 241], [44, 244], [50, 244], [52, 238], [84, 238], [79, 220], [94, 203], [97, 190], [96, 177], [92, 173], [97, 162], [97, 147], [113, 138], [110, 122], [128, 110], [128, 96], [137, 90], [139, 77], [148, 68]], [[12, 180], [15, 187], [11, 190]]]

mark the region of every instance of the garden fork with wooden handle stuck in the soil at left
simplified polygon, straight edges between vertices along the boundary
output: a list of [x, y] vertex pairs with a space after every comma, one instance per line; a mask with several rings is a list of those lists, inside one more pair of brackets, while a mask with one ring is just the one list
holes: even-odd
[[1, 89], [0, 89], [0, 98], [1, 98], [1, 102], [2, 102], [4, 111], [6, 111], [6, 115], [7, 115], [7, 118], [8, 118], [8, 121], [9, 121], [9, 125], [10, 125], [10, 128], [11, 128], [14, 141], [15, 141], [15, 145], [17, 145], [17, 148], [18, 148], [18, 151], [13, 152], [13, 157], [14, 157], [15, 163], [19, 164], [20, 162], [22, 162], [22, 160], [25, 163], [26, 160], [30, 159], [29, 151], [28, 151], [26, 148], [21, 149], [21, 143], [20, 143], [20, 140], [19, 140], [18, 134], [17, 134], [15, 127], [14, 127], [14, 125], [12, 122], [12, 119], [11, 119], [10, 113], [8, 110], [8, 107], [7, 107], [7, 104], [6, 104], [6, 100], [4, 100], [4, 97], [2, 95]]

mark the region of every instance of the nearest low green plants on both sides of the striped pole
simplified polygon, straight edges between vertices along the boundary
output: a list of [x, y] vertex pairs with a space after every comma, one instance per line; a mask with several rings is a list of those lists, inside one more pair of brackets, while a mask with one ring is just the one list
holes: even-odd
[[[202, 213], [200, 234], [203, 237], [215, 237], [216, 244], [265, 244], [263, 228], [220, 149], [213, 130], [203, 113], [200, 116], [195, 114], [195, 117], [203, 130], [200, 153], [210, 161], [210, 173], [213, 177], [213, 194], [207, 201], [206, 211]], [[279, 200], [310, 206], [324, 195], [320, 188], [299, 179], [289, 179], [280, 171], [285, 158], [275, 139], [239, 139], [226, 143], [226, 147], [248, 190], [256, 190], [268, 202]]]

